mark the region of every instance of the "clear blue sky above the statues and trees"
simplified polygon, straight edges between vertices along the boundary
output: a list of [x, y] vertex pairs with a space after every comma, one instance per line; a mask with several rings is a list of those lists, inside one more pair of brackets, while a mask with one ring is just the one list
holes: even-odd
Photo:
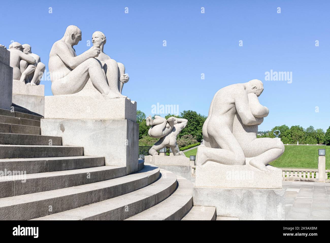
[[[207, 115], [217, 90], [260, 79], [259, 100], [270, 113], [259, 130], [282, 124], [326, 130], [329, 7], [328, 1], [16, 1], [1, 10], [0, 43], [30, 44], [48, 70], [50, 48], [68, 25], [82, 30], [78, 55], [99, 30], [107, 37], [104, 52], [130, 76], [123, 94], [147, 115], [157, 103]], [[292, 83], [266, 81], [271, 69], [292, 72]], [[41, 84], [52, 95], [50, 81]]]

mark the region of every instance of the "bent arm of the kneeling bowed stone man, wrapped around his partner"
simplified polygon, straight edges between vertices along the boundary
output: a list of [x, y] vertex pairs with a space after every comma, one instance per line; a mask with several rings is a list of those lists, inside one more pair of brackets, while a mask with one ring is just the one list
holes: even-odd
[[253, 116], [249, 107], [248, 94], [244, 89], [236, 93], [235, 107], [244, 125], [259, 125], [263, 122], [263, 117], [258, 118]]

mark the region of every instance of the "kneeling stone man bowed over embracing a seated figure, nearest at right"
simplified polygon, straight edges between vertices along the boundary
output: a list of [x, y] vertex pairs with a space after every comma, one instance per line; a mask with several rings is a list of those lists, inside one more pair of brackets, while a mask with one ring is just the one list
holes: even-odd
[[225, 165], [249, 164], [261, 171], [272, 170], [266, 165], [284, 152], [281, 141], [256, 138], [258, 125], [269, 113], [259, 103], [263, 91], [260, 80], [226, 86], [216, 92], [209, 115], [203, 125], [204, 145], [197, 149], [200, 165], [215, 161]]

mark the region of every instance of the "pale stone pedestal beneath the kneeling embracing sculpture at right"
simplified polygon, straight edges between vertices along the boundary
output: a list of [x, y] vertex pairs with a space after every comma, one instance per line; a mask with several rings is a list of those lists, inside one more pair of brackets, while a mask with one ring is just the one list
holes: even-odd
[[240, 220], [284, 220], [285, 197], [281, 169], [262, 172], [248, 164], [229, 166], [196, 162], [194, 205], [216, 207], [222, 217]]

